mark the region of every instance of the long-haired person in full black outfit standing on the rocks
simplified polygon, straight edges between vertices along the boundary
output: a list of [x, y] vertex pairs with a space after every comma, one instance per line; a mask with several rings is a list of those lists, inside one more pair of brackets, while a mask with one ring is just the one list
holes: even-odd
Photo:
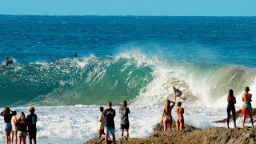
[[230, 89], [229, 91], [229, 95], [227, 96], [227, 119], [226, 119], [226, 123], [227, 123], [227, 128], [230, 128], [229, 123], [230, 123], [230, 112], [232, 111], [233, 114], [233, 120], [234, 120], [234, 127], [237, 127], [235, 124], [235, 106], [234, 104], [236, 103], [235, 97], [234, 97], [234, 91]]

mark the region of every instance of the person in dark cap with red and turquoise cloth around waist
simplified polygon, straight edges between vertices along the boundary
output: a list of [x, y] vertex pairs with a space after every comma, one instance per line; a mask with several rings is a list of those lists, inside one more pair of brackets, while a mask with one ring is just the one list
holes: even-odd
[[254, 121], [253, 121], [253, 109], [251, 107], [251, 97], [252, 94], [249, 94], [250, 88], [248, 86], [246, 86], [245, 89], [245, 94], [242, 95], [242, 115], [243, 115], [243, 119], [242, 119], [242, 128], [245, 126], [245, 122], [246, 122], [246, 115], [250, 116], [250, 122], [252, 124], [252, 126], [254, 127]]

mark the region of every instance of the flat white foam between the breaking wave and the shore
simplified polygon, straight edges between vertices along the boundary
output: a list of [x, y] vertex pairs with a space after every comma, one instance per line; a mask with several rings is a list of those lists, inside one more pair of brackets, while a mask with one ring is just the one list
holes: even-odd
[[[98, 108], [99, 106], [36, 106], [38, 114], [38, 142], [39, 143], [82, 143], [90, 138], [97, 138]], [[226, 126], [226, 124], [212, 123], [226, 118], [226, 107], [195, 107], [185, 106], [185, 123], [198, 128], [210, 126]], [[115, 117], [116, 138], [120, 137], [120, 114], [118, 106]], [[28, 107], [16, 107], [18, 114], [24, 111], [28, 114]], [[155, 124], [160, 122], [162, 106], [130, 106], [130, 137], [146, 138], [153, 134]], [[172, 112], [175, 119], [174, 110]], [[1, 117], [2, 118], [2, 117]], [[238, 118], [238, 126], [242, 126]], [[0, 121], [2, 130], [3, 118]], [[230, 127], [233, 127], [230, 121]], [[250, 124], [246, 123], [246, 126]], [[4, 142], [4, 135], [0, 133], [0, 142]]]

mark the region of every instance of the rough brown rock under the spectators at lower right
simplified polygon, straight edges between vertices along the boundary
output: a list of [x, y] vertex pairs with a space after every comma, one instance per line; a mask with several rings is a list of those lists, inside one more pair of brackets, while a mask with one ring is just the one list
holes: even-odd
[[[256, 115], [256, 110], [254, 110], [254, 116]], [[236, 112], [236, 116], [241, 117], [241, 110]], [[226, 119], [220, 120], [218, 122], [226, 122]], [[175, 122], [173, 122], [172, 131], [163, 131], [162, 124], [157, 124], [154, 126], [154, 134], [148, 138], [120, 138], [117, 144], [169, 144], [169, 143], [256, 143], [256, 127], [250, 128], [234, 128], [227, 129], [224, 127], [211, 127], [209, 129], [201, 130], [194, 128], [193, 126], [185, 125], [182, 132], [176, 131]], [[86, 144], [102, 144], [104, 143], [104, 138], [93, 138]], [[113, 143], [113, 142], [108, 142]]]

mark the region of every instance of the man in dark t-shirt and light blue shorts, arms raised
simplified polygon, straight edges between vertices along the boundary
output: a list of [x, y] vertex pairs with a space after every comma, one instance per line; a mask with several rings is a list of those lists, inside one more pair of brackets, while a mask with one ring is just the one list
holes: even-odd
[[115, 144], [115, 135], [114, 135], [114, 116], [115, 116], [115, 110], [112, 109], [112, 103], [107, 102], [107, 109], [103, 112], [104, 118], [105, 118], [105, 143], [107, 144], [107, 140], [110, 136], [110, 134], [113, 137], [113, 143]]

